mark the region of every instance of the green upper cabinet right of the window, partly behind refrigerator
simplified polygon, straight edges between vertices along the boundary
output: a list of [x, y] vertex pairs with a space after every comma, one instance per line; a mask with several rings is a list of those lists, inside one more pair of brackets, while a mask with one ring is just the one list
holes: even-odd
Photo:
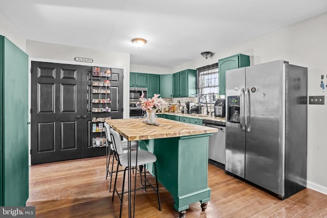
[[226, 70], [250, 66], [250, 57], [243, 54], [233, 55], [218, 60], [219, 94], [226, 94]]

